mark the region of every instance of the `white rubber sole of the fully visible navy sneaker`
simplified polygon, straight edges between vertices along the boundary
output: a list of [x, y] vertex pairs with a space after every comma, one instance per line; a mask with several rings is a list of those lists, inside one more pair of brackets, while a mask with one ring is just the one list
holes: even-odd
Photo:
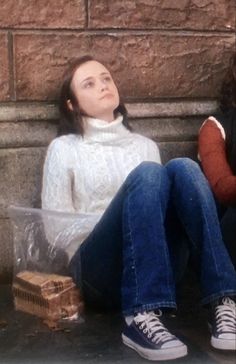
[[186, 345], [176, 346], [168, 349], [145, 349], [142, 346], [136, 344], [130, 340], [127, 336], [122, 334], [123, 343], [131, 349], [134, 349], [140, 356], [148, 360], [171, 360], [182, 358], [188, 354]]

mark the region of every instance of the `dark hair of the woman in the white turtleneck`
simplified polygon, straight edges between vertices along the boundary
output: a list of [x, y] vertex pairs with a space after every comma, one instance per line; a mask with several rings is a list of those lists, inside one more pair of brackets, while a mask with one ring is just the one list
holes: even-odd
[[[80, 109], [79, 103], [71, 89], [71, 81], [74, 77], [76, 70], [84, 63], [95, 61], [92, 56], [85, 55], [77, 58], [70, 64], [69, 68], [64, 74], [60, 97], [59, 97], [59, 112], [60, 123], [58, 126], [58, 135], [66, 134], [79, 134], [84, 135], [83, 118], [84, 115]], [[70, 100], [72, 109], [69, 108], [68, 100]], [[115, 116], [120, 113], [123, 115], [123, 124], [127, 129], [131, 129], [127, 121], [127, 110], [123, 102], [120, 102], [118, 107], [114, 110]]]

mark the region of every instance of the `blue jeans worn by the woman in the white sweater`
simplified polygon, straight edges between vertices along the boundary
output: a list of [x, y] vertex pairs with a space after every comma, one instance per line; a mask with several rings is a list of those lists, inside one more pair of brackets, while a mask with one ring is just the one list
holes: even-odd
[[176, 307], [180, 226], [199, 268], [203, 303], [236, 294], [208, 182], [195, 162], [177, 158], [136, 167], [75, 253], [71, 274], [85, 302], [121, 304], [124, 315]]

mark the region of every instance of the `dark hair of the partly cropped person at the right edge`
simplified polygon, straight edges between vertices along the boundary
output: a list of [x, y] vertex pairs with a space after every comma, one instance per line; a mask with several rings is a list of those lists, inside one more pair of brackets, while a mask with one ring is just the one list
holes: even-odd
[[236, 108], [236, 52], [230, 59], [229, 68], [221, 86], [219, 103], [222, 111]]

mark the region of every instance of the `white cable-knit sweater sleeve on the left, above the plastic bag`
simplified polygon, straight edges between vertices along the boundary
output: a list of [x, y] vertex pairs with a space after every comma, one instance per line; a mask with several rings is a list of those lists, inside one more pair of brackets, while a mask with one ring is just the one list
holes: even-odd
[[43, 169], [42, 208], [75, 212], [72, 198], [73, 173], [68, 145], [55, 139], [49, 146]]

